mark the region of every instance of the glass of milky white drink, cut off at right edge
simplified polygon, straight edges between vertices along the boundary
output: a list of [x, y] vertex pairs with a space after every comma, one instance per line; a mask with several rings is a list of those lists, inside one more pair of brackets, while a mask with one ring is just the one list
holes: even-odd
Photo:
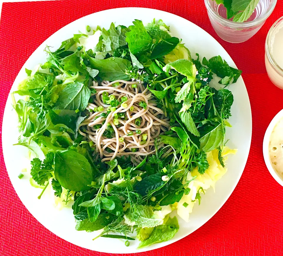
[[267, 34], [265, 66], [272, 83], [283, 89], [283, 17], [272, 25]]

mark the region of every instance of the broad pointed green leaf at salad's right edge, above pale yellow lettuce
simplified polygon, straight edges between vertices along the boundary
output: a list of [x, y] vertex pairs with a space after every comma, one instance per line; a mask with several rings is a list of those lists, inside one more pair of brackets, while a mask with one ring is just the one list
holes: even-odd
[[208, 152], [219, 145], [221, 145], [223, 140], [223, 129], [222, 124], [219, 124], [216, 127], [208, 127], [202, 130], [204, 135], [200, 138], [200, 149]]

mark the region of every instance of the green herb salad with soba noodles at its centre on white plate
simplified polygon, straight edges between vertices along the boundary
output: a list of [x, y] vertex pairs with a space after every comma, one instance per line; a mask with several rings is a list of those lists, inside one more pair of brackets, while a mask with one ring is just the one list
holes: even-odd
[[192, 58], [162, 20], [87, 26], [45, 52], [12, 93], [17, 145], [37, 155], [38, 198], [52, 188], [76, 230], [99, 230], [93, 239], [138, 239], [138, 248], [170, 240], [174, 213], [188, 221], [236, 153], [225, 146], [233, 103], [225, 87], [241, 71], [220, 56]]

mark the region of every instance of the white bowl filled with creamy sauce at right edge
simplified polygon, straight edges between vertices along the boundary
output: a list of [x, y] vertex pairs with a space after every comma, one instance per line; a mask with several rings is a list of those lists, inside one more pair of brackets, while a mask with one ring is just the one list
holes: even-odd
[[272, 119], [266, 129], [263, 156], [270, 174], [283, 186], [283, 109]]

